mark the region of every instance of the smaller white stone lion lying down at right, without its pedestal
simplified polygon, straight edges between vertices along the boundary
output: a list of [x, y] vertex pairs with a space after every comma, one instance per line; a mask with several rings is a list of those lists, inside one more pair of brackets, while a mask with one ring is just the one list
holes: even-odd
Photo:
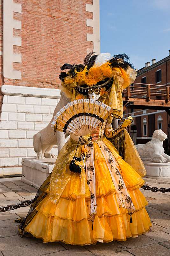
[[170, 156], [166, 155], [163, 148], [163, 140], [167, 138], [162, 130], [153, 132], [152, 140], [146, 144], [135, 145], [139, 156], [143, 161], [151, 161], [156, 163], [170, 162]]

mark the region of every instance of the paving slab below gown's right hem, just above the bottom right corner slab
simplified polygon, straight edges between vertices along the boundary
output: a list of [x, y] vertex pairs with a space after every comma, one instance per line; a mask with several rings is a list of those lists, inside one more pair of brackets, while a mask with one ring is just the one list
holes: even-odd
[[146, 237], [144, 235], [140, 235], [138, 237], [130, 237], [127, 239], [127, 241], [117, 241], [117, 242], [119, 244], [124, 245], [128, 249], [156, 243], [155, 240], [149, 237]]

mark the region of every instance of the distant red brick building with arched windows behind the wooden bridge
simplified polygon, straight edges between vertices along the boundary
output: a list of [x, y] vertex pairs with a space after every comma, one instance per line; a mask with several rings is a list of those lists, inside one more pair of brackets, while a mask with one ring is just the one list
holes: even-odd
[[[139, 69], [137, 72], [138, 74], [135, 80], [135, 83], [139, 83], [137, 86], [145, 90], [147, 84], [154, 84], [155, 86], [152, 87], [156, 88], [158, 93], [154, 97], [161, 102], [162, 87], [160, 88], [160, 85], [170, 84], [170, 51], [169, 56], [166, 58], [158, 62], [153, 59], [152, 65], [150, 65], [150, 62], [146, 62], [145, 67]], [[146, 95], [141, 97], [146, 98]], [[129, 108], [124, 111], [124, 118], [128, 115], [133, 116], [133, 124], [137, 126], [137, 144], [147, 143], [152, 139], [152, 134], [157, 129], [162, 129], [168, 135], [169, 115], [165, 110]], [[129, 127], [130, 131], [131, 127]], [[164, 148], [166, 150], [167, 141], [164, 142]]]

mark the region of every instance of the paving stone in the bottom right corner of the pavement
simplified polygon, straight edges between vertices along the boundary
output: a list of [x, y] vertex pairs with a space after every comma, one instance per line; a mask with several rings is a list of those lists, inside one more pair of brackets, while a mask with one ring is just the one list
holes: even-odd
[[160, 244], [150, 244], [138, 248], [133, 248], [130, 249], [129, 252], [135, 256], [170, 256], [170, 250], [161, 246]]

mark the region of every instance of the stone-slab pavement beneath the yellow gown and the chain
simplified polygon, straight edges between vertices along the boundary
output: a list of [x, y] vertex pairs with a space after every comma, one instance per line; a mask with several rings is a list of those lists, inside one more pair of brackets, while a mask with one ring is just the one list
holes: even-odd
[[[150, 187], [170, 188], [170, 179], [144, 179], [145, 184]], [[149, 203], [146, 210], [151, 218], [152, 228], [138, 238], [88, 246], [57, 242], [43, 244], [41, 239], [35, 237], [21, 238], [17, 235], [18, 223], [14, 220], [25, 217], [28, 206], [0, 213], [0, 256], [170, 256], [170, 192], [141, 191]], [[0, 192], [0, 206], [3, 206], [30, 200], [37, 189], [20, 180], [0, 179]]]

